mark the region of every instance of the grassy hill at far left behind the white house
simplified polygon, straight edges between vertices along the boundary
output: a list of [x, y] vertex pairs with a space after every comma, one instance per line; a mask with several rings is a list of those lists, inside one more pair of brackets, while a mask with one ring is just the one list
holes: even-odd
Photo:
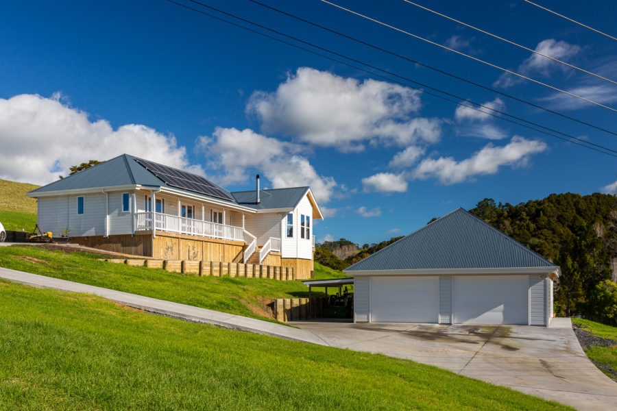
[[36, 200], [25, 195], [34, 184], [0, 179], [0, 223], [5, 229], [31, 232], [36, 225]]

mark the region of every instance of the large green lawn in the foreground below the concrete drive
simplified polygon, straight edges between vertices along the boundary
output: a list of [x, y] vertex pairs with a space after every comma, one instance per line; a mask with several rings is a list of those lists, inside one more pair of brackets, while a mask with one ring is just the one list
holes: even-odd
[[571, 410], [408, 360], [0, 281], [1, 410]]

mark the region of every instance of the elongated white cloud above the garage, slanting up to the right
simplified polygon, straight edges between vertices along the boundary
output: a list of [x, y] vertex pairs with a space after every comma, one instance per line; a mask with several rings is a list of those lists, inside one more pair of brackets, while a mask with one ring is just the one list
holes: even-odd
[[546, 148], [544, 142], [514, 136], [503, 147], [494, 147], [489, 143], [472, 157], [459, 162], [452, 157], [426, 158], [412, 175], [417, 179], [435, 177], [441, 184], [456, 184], [475, 175], [495, 174], [500, 166], [522, 166], [530, 155], [541, 153]]

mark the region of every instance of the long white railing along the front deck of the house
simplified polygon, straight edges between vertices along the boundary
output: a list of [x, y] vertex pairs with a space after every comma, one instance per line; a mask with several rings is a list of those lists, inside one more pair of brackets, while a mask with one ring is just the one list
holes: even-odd
[[[154, 215], [154, 229], [178, 233], [191, 234], [193, 236], [202, 236], [210, 238], [221, 238], [222, 240], [243, 241], [249, 244], [254, 240], [254, 236], [245, 231], [242, 227], [234, 225], [210, 223], [210, 221], [201, 221], [195, 219], [187, 219], [186, 217], [172, 216], [170, 214], [161, 214], [153, 212], [137, 212], [135, 213], [135, 229], [150, 230], [152, 227], [152, 216]], [[247, 241], [248, 234], [250, 241]]]

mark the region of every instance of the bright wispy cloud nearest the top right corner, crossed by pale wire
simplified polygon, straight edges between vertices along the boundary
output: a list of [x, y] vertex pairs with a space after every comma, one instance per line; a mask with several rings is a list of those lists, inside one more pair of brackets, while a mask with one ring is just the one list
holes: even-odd
[[[577, 55], [581, 51], [581, 47], [577, 45], [570, 45], [565, 41], [557, 41], [553, 38], [547, 38], [542, 40], [535, 47], [535, 51], [544, 55], [550, 55], [553, 58], [566, 61], [568, 58]], [[524, 60], [520, 66], [518, 66], [518, 73], [523, 75], [530, 75], [531, 73], [538, 73], [540, 75], [548, 76], [555, 69], [561, 69], [562, 71], [568, 71], [568, 66], [555, 62], [542, 55], [531, 53], [529, 58]], [[494, 82], [494, 86], [500, 86], [508, 88], [523, 82], [521, 77], [511, 75], [509, 73], [503, 73], [499, 79]]]

